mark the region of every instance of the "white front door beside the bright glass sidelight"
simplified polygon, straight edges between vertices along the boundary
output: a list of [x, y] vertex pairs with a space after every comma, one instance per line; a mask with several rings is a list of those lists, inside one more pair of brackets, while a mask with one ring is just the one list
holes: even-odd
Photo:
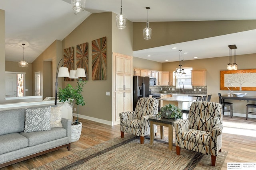
[[5, 74], [5, 96], [17, 97], [17, 78], [15, 73]]

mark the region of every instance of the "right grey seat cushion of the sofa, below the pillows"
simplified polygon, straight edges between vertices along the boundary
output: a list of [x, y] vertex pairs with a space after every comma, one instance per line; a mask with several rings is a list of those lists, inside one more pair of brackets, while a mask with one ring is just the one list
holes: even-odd
[[20, 132], [20, 135], [26, 137], [28, 139], [28, 146], [32, 147], [34, 145], [39, 145], [41, 143], [46, 143], [49, 141], [60, 139], [62, 137], [66, 137], [67, 131], [62, 127], [55, 127], [49, 131], [37, 131], [30, 133]]

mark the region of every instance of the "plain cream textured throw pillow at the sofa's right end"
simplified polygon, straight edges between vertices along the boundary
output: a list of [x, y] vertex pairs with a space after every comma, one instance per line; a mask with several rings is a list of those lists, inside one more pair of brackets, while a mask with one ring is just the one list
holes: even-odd
[[50, 127], [51, 128], [62, 127], [62, 124], [61, 124], [61, 118], [62, 118], [61, 108], [62, 107], [60, 107], [60, 106], [51, 108], [51, 119], [50, 119]]

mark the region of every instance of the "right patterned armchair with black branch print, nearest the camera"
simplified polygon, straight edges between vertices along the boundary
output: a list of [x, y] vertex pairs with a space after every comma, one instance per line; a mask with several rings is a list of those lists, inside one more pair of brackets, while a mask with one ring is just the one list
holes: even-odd
[[188, 149], [212, 156], [215, 166], [222, 147], [222, 105], [214, 102], [193, 102], [188, 119], [173, 123], [176, 130], [176, 154]]

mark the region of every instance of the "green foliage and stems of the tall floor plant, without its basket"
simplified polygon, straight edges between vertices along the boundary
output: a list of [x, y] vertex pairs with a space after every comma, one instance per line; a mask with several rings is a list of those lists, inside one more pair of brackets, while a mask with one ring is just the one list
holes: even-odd
[[67, 84], [65, 88], [63, 89], [59, 88], [59, 91], [58, 91], [58, 98], [60, 102], [67, 102], [69, 106], [72, 108], [72, 119], [71, 119], [72, 125], [80, 124], [80, 122], [78, 122], [78, 109], [77, 109], [77, 119], [75, 120], [75, 122], [73, 121], [73, 117], [74, 117], [73, 107], [74, 107], [74, 104], [76, 104], [77, 106], [85, 105], [84, 97], [81, 94], [81, 92], [84, 91], [83, 90], [84, 84], [86, 84], [86, 81], [83, 81], [82, 79], [78, 79], [78, 82], [75, 88], [72, 85]]

